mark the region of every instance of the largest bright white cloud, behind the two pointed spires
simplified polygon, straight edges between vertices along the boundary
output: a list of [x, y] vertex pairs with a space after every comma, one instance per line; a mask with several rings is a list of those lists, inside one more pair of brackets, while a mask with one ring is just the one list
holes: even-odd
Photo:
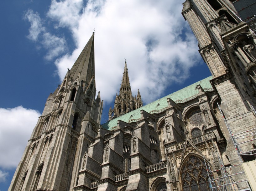
[[[119, 89], [124, 58], [133, 95], [140, 89], [146, 103], [171, 83], [184, 81], [201, 59], [195, 37], [182, 33], [188, 28], [180, 13], [182, 1], [90, 0], [82, 12], [79, 6], [81, 1], [71, 0], [53, 1], [50, 6], [48, 17], [67, 27], [77, 45], [71, 55], [60, 57], [55, 64], [62, 80], [96, 28], [96, 86], [107, 102], [112, 102]], [[69, 7], [75, 10], [71, 17], [61, 11]]]

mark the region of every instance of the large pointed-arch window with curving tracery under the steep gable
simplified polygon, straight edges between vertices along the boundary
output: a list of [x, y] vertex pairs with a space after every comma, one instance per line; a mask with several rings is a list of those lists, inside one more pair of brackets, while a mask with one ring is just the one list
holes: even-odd
[[185, 159], [181, 167], [180, 179], [183, 191], [210, 191], [205, 163], [194, 155], [190, 155]]

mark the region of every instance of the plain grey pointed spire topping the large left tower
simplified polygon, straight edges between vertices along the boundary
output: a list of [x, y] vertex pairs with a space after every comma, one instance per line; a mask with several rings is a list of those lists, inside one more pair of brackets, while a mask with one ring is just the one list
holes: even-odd
[[95, 76], [94, 66], [94, 32], [85, 45], [75, 64], [70, 70], [70, 77], [75, 79], [81, 72], [81, 80], [89, 83], [92, 76]]

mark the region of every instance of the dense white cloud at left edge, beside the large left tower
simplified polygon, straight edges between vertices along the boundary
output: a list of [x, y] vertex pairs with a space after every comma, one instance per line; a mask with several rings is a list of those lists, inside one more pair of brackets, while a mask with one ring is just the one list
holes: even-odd
[[40, 115], [38, 111], [22, 106], [0, 108], [1, 168], [15, 168], [18, 165]]

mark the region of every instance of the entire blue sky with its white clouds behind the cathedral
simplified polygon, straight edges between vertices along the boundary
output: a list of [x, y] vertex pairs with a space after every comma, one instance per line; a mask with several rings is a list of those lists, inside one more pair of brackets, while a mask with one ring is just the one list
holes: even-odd
[[0, 190], [7, 190], [45, 101], [95, 29], [96, 88], [108, 119], [124, 58], [144, 105], [210, 76], [184, 0], [3, 0]]

